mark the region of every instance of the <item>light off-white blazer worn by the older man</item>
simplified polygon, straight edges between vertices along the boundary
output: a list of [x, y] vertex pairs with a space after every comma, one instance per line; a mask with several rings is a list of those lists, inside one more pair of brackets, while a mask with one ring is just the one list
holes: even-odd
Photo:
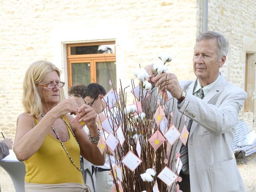
[[[244, 105], [246, 92], [234, 84], [226, 82], [220, 74], [218, 82], [203, 99], [193, 96], [194, 82], [182, 81], [186, 98], [181, 108], [177, 100], [169, 100], [166, 107], [174, 102], [174, 125], [184, 126], [185, 115], [193, 120], [188, 138], [188, 159], [191, 192], [246, 192], [242, 177], [236, 166], [232, 142], [240, 109]], [[172, 96], [169, 93], [169, 98]], [[177, 122], [176, 122], [177, 121]], [[188, 120], [187, 120], [188, 123]], [[182, 142], [177, 141], [172, 170], [175, 168], [175, 153], [180, 151]], [[176, 146], [177, 142], [174, 144]], [[169, 188], [170, 190], [170, 188]], [[174, 187], [172, 188], [174, 190]]]

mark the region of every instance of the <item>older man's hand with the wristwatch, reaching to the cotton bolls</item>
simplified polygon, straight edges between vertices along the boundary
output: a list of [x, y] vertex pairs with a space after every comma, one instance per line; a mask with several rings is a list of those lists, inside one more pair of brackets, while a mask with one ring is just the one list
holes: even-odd
[[178, 82], [178, 79], [173, 73], [161, 73], [156, 75], [151, 79], [155, 82], [155, 86], [159, 88], [159, 90], [164, 91], [168, 90], [174, 98], [181, 98], [182, 96], [182, 88]]

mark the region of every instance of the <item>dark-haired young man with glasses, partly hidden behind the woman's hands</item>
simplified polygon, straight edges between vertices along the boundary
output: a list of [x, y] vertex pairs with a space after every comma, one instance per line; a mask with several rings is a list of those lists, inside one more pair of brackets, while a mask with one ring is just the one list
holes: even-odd
[[[106, 95], [106, 90], [103, 86], [97, 83], [89, 84], [83, 93], [84, 101], [87, 105], [94, 108], [97, 114], [103, 112], [103, 114], [109, 115], [109, 112], [106, 110], [106, 103], [102, 102], [102, 98]], [[116, 114], [117, 109], [113, 107], [111, 110], [112, 114]], [[108, 133], [101, 130], [101, 134], [105, 138], [108, 137]], [[110, 150], [106, 151], [105, 164], [103, 166], [94, 166], [96, 174], [96, 192], [110, 192], [111, 187], [113, 186], [113, 179], [109, 175], [110, 172], [110, 161], [112, 166], [115, 164], [115, 158]]]

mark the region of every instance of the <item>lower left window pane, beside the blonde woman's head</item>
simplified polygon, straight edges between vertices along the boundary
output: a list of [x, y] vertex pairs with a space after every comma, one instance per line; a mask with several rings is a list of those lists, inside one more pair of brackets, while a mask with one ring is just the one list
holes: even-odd
[[72, 84], [85, 84], [91, 82], [90, 63], [72, 63]]

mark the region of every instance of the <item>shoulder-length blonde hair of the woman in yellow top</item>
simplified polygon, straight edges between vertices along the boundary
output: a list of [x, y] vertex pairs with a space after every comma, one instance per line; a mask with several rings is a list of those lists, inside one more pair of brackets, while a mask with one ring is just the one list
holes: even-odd
[[[60, 70], [48, 61], [36, 61], [26, 71], [23, 82], [22, 104], [25, 112], [36, 118], [42, 114], [42, 102], [36, 84], [40, 84], [46, 74], [52, 71], [56, 71], [60, 77]], [[60, 94], [60, 101], [62, 99], [63, 96]]]

